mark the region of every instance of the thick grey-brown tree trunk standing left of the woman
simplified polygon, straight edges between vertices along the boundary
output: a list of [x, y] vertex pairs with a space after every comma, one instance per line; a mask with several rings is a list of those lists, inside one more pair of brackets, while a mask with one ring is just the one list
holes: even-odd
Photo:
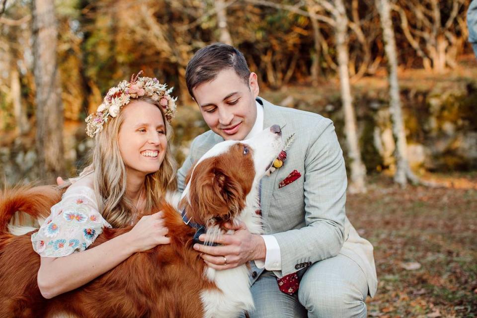
[[63, 104], [57, 64], [57, 20], [53, 0], [33, 1], [33, 57], [36, 86], [36, 146], [40, 177], [63, 174]]

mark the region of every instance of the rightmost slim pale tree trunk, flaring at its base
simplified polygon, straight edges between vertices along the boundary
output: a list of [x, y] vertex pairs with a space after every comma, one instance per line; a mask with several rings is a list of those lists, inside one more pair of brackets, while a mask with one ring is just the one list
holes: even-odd
[[390, 86], [390, 113], [393, 123], [393, 134], [396, 139], [396, 173], [394, 180], [402, 187], [407, 184], [407, 179], [415, 182], [417, 178], [412, 173], [407, 161], [407, 142], [404, 129], [404, 120], [402, 118], [401, 100], [399, 95], [399, 81], [397, 80], [397, 56], [396, 40], [394, 36], [393, 22], [391, 21], [391, 7], [389, 0], [376, 0], [381, 26], [383, 28], [384, 49], [388, 58], [388, 73]]

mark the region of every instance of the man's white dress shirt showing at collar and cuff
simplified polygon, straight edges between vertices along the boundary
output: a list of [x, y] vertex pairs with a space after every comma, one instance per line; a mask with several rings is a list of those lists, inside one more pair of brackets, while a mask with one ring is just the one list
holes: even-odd
[[[253, 124], [252, 129], [245, 137], [245, 139], [252, 138], [263, 131], [263, 106], [255, 101], [257, 106], [257, 118], [255, 119], [255, 124]], [[255, 265], [258, 268], [265, 267], [266, 270], [281, 270], [282, 269], [282, 258], [280, 254], [280, 246], [278, 245], [277, 239], [273, 235], [262, 235], [261, 236], [265, 241], [265, 262], [260, 260], [255, 260]]]

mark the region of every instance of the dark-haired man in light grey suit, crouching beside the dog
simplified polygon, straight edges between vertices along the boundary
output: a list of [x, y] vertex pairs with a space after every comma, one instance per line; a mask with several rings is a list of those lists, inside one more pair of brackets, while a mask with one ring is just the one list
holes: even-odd
[[377, 287], [373, 246], [345, 214], [346, 170], [333, 123], [258, 97], [256, 74], [229, 45], [197, 51], [186, 82], [211, 130], [192, 142], [179, 190], [193, 163], [221, 141], [248, 139], [272, 124], [283, 127], [285, 140], [294, 136], [261, 181], [266, 235], [242, 224], [218, 239], [220, 246], [194, 248], [217, 270], [250, 261], [251, 317], [366, 317], [366, 296]]

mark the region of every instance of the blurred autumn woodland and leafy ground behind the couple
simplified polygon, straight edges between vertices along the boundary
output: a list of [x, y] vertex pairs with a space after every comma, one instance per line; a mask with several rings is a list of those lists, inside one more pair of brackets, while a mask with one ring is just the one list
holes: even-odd
[[187, 62], [207, 44], [229, 43], [257, 73], [262, 97], [334, 121], [347, 214], [375, 246], [380, 283], [369, 315], [475, 317], [469, 4], [0, 0], [0, 184], [76, 175], [92, 145], [84, 118], [140, 70], [174, 86], [180, 163], [208, 129], [187, 92]]

